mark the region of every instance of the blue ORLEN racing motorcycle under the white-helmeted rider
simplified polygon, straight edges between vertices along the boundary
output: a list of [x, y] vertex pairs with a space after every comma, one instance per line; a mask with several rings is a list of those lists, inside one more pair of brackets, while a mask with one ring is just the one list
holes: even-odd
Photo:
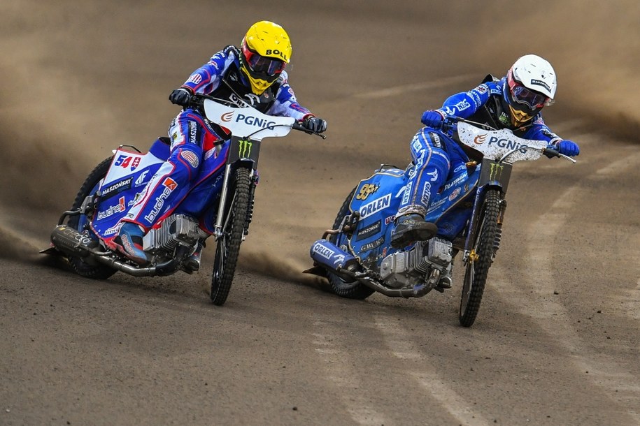
[[391, 247], [395, 214], [413, 165], [401, 170], [383, 164], [347, 196], [332, 229], [311, 246], [314, 266], [304, 272], [326, 277], [332, 291], [344, 298], [364, 300], [376, 291], [420, 298], [452, 287], [453, 263], [462, 254], [459, 321], [470, 327], [500, 245], [513, 163], [542, 155], [576, 161], [548, 147], [548, 142], [459, 117], [449, 117], [443, 129], [470, 161], [453, 170], [432, 195], [425, 220], [436, 223], [437, 235], [401, 249]]

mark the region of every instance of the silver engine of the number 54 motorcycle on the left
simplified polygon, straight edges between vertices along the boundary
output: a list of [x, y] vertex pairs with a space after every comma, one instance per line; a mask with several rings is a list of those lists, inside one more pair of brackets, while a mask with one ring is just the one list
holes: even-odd
[[197, 221], [186, 214], [173, 214], [162, 221], [162, 226], [145, 235], [144, 247], [156, 253], [173, 253], [178, 244], [192, 247], [201, 237], [206, 237], [206, 234]]

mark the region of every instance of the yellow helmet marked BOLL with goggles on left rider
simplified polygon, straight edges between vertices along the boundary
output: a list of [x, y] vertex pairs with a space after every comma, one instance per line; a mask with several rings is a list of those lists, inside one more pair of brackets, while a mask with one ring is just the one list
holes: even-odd
[[273, 85], [291, 60], [291, 42], [283, 27], [269, 21], [253, 24], [240, 47], [240, 69], [251, 83], [251, 91], [261, 95]]

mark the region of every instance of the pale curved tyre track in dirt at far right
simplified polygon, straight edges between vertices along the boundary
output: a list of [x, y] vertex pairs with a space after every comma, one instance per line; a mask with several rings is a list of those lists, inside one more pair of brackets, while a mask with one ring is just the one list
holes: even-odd
[[[595, 137], [582, 135], [584, 145], [595, 145]], [[625, 174], [630, 168], [640, 162], [640, 154], [621, 155], [623, 158], [610, 163], [603, 168], [592, 172], [580, 184], [571, 186], [557, 197], [557, 200], [546, 212], [541, 212], [539, 219], [529, 226], [527, 241], [522, 258], [525, 260], [525, 270], [522, 271], [521, 281], [502, 279], [499, 265], [495, 265], [499, 279], [493, 281], [499, 287], [499, 294], [505, 302], [512, 304], [515, 311], [531, 317], [536, 325], [546, 333], [549, 339], [553, 339], [557, 346], [564, 348], [563, 353], [571, 354], [577, 371], [588, 372], [588, 380], [598, 388], [602, 388], [604, 395], [611, 395], [613, 406], [623, 406], [627, 416], [634, 423], [640, 424], [640, 385], [639, 378], [623, 365], [616, 362], [606, 354], [595, 353], [590, 346], [581, 339], [574, 330], [574, 322], [571, 320], [567, 307], [561, 302], [551, 300], [549, 295], [557, 291], [553, 268], [545, 265], [553, 265], [555, 254], [562, 253], [562, 247], [557, 245], [555, 238], [562, 233], [569, 219], [573, 216], [573, 210], [589, 205], [592, 198], [590, 186], [601, 179], [616, 179], [616, 176]], [[640, 258], [640, 236], [635, 240], [639, 244], [632, 244], [632, 259]], [[640, 263], [636, 263], [639, 265]], [[640, 272], [640, 271], [639, 271]], [[533, 277], [528, 278], [527, 277]], [[633, 293], [632, 291], [627, 291]], [[557, 294], [557, 293], [555, 293]], [[627, 304], [627, 311], [631, 313], [640, 310], [637, 296], [634, 299], [625, 299], [625, 295], [618, 297], [620, 303]], [[521, 306], [522, 300], [527, 300], [530, 305], [536, 306], [535, 310], [522, 311], [516, 307]], [[615, 398], [614, 398], [615, 395]], [[632, 424], [632, 423], [630, 423]]]

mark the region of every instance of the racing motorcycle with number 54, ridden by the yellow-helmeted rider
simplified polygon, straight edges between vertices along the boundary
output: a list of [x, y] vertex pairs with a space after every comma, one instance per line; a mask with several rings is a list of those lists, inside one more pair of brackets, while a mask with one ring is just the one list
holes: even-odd
[[[80, 187], [71, 210], [60, 216], [51, 233], [51, 246], [41, 253], [60, 254], [74, 272], [93, 279], [107, 279], [118, 271], [135, 277], [166, 276], [178, 271], [192, 274], [199, 270], [199, 262], [190, 261], [191, 256], [213, 235], [216, 247], [211, 300], [216, 305], [224, 304], [240, 244], [253, 217], [262, 140], [283, 137], [292, 129], [313, 132], [292, 117], [264, 115], [250, 105], [207, 95], [194, 95], [191, 106], [227, 129], [230, 136], [204, 154], [199, 182], [170, 216], [161, 218], [144, 236], [148, 265], [131, 262], [109, 249], [106, 242], [118, 234], [120, 219], [169, 158], [170, 140], [166, 137], [158, 138], [144, 154], [131, 145], [120, 145], [113, 156], [99, 163]], [[176, 183], [166, 179], [164, 185], [168, 195]]]

